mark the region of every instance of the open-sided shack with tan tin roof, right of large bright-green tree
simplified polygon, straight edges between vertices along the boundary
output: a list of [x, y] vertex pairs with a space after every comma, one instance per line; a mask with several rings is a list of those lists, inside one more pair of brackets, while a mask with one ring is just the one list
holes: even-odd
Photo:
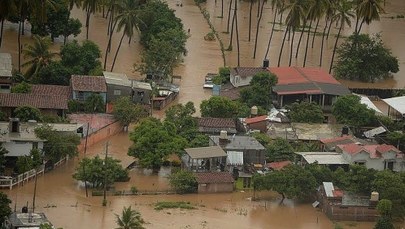
[[226, 153], [219, 146], [208, 146], [184, 149], [183, 165], [195, 172], [224, 171], [226, 166]]

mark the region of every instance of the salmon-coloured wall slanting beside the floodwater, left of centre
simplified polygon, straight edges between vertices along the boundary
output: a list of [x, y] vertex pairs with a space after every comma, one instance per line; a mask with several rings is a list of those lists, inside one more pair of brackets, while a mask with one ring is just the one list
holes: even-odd
[[[90, 147], [110, 136], [120, 133], [123, 130], [123, 126], [120, 122], [111, 123], [108, 126], [105, 126], [98, 131], [92, 133], [87, 138], [87, 147]], [[83, 152], [86, 138], [83, 138], [80, 142], [80, 145], [77, 146], [79, 152]]]

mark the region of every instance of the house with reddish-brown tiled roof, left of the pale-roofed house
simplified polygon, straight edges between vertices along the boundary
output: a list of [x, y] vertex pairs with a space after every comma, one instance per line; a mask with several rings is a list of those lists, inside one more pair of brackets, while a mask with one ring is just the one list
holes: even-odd
[[107, 102], [107, 85], [103, 76], [73, 75], [70, 79], [73, 100], [85, 101], [91, 94], [99, 94]]

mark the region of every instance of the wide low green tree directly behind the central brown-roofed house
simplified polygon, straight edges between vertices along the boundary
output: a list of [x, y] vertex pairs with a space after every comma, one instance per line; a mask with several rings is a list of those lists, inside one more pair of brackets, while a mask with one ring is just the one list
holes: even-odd
[[238, 113], [237, 109], [232, 100], [220, 96], [203, 100], [200, 105], [202, 117], [233, 118]]

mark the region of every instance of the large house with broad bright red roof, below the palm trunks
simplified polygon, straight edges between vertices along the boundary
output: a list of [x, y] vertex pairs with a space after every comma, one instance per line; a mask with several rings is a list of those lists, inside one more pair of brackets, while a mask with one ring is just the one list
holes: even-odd
[[337, 97], [350, 94], [347, 87], [320, 68], [271, 67], [278, 82], [273, 94], [280, 107], [296, 101], [308, 101], [330, 110]]

